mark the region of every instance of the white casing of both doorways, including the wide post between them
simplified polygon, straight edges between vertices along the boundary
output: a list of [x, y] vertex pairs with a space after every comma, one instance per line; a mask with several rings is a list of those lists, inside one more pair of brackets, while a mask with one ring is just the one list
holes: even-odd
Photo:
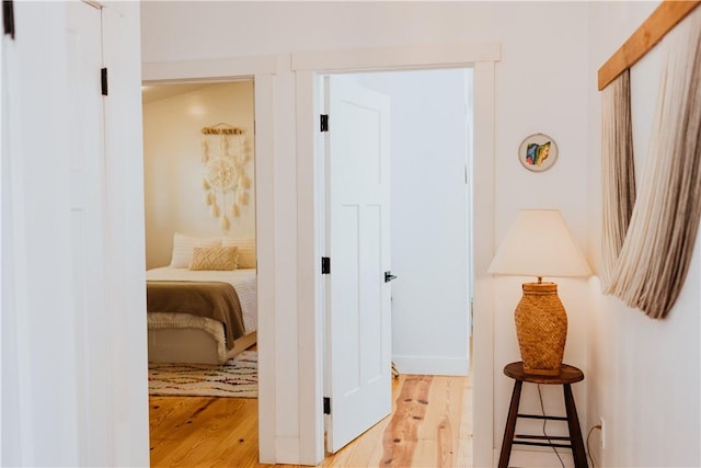
[[[323, 443], [323, 320], [319, 259], [323, 236], [323, 168], [317, 130], [320, 112], [319, 77], [323, 73], [425, 68], [474, 69], [474, 464], [491, 466], [493, 437], [493, 297], [492, 277], [486, 274], [494, 252], [494, 136], [495, 62], [498, 43], [480, 43], [391, 49], [343, 50], [292, 54], [278, 57], [229, 57], [209, 60], [177, 60], [142, 64], [142, 80], [186, 82], [254, 77], [256, 115], [256, 243], [258, 264], [258, 453], [261, 463], [318, 465], [324, 458]], [[279, 62], [279, 65], [278, 65]], [[291, 64], [291, 67], [289, 66]], [[280, 84], [283, 83], [283, 84]], [[294, 84], [289, 84], [294, 83]], [[280, 87], [283, 92], [280, 93]], [[274, 91], [277, 91], [275, 94]], [[284, 101], [284, 102], [279, 102]], [[296, 103], [296, 104], [295, 104]], [[274, 132], [276, 118], [295, 110], [294, 137]], [[291, 145], [291, 146], [290, 146]], [[295, 155], [295, 176], [276, 180]], [[297, 194], [294, 232], [275, 232], [283, 209], [279, 185]], [[288, 184], [294, 184], [289, 187]], [[277, 217], [276, 217], [277, 216]], [[278, 228], [280, 229], [280, 228]], [[292, 236], [296, 248], [289, 259], [276, 253], [280, 239]], [[280, 273], [296, 273], [297, 313], [289, 313], [288, 295], [277, 281]], [[276, 274], [277, 273], [277, 274]], [[285, 308], [285, 315], [280, 310]], [[288, 324], [294, 327], [287, 330]], [[279, 333], [278, 333], [279, 332]], [[279, 339], [278, 339], [279, 338]], [[146, 345], [146, 343], [143, 343]], [[294, 357], [294, 365], [289, 358]], [[278, 366], [277, 362], [281, 364]], [[285, 363], [285, 364], [283, 364]], [[294, 388], [289, 389], [290, 386]], [[280, 389], [298, 396], [298, 403], [285, 404]], [[283, 427], [284, 426], [284, 427]], [[290, 431], [288, 433], [288, 431]]]

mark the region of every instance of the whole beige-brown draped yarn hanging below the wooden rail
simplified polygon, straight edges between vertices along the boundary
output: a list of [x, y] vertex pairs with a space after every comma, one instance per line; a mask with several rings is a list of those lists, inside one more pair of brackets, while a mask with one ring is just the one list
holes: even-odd
[[655, 319], [679, 296], [701, 219], [701, 9], [667, 35], [664, 56], [637, 196], [628, 76], [605, 90], [602, 105], [602, 287]]

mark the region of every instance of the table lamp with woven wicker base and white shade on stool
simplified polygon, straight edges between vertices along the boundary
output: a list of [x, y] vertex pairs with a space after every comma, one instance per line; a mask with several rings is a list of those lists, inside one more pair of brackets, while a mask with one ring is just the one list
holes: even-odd
[[489, 273], [536, 276], [524, 283], [514, 320], [524, 372], [559, 375], [567, 338], [567, 313], [558, 285], [543, 276], [589, 276], [591, 271], [556, 209], [524, 209], [499, 246]]

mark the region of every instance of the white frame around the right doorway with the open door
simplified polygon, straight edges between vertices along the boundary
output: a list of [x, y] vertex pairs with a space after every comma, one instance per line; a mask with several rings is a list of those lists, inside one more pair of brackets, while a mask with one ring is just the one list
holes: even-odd
[[[323, 111], [319, 77], [334, 72], [472, 68], [474, 70], [473, 246], [474, 465], [492, 466], [494, 447], [494, 304], [486, 273], [494, 253], [495, 62], [499, 43], [292, 54], [297, 98], [297, 199], [299, 299], [299, 453], [302, 463], [324, 458], [323, 352], [325, 199]], [[311, 233], [311, 236], [310, 236]]]

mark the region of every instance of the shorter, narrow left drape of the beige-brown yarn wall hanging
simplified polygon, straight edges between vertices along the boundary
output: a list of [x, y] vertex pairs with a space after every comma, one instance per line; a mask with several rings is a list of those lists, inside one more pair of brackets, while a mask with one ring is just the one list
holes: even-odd
[[612, 81], [601, 96], [601, 259], [606, 288], [623, 247], [635, 203], [635, 167], [631, 121], [630, 71]]

